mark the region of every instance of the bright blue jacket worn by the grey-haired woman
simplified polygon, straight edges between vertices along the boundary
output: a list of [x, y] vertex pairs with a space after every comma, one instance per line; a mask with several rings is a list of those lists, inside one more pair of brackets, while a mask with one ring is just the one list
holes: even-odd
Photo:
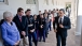
[[13, 46], [17, 41], [20, 41], [19, 32], [13, 21], [12, 26], [6, 21], [3, 21], [1, 25], [1, 35], [3, 39], [3, 45]]

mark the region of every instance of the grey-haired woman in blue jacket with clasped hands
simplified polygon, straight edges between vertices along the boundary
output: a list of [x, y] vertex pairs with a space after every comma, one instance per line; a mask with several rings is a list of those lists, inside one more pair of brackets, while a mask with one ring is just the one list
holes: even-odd
[[15, 24], [12, 21], [13, 19], [12, 13], [4, 12], [3, 19], [4, 21], [1, 25], [3, 45], [4, 46], [17, 46], [20, 41], [20, 36], [19, 36], [19, 32]]

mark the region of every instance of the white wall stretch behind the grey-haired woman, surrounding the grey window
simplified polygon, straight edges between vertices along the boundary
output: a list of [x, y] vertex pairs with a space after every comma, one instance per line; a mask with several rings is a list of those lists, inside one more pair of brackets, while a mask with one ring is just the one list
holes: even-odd
[[23, 7], [24, 10], [31, 9], [31, 14], [37, 14], [37, 5], [26, 4], [26, 0], [8, 0], [9, 5], [5, 3], [0, 3], [0, 19], [2, 19], [2, 14], [5, 11], [10, 11], [15, 15], [17, 13], [18, 7]]

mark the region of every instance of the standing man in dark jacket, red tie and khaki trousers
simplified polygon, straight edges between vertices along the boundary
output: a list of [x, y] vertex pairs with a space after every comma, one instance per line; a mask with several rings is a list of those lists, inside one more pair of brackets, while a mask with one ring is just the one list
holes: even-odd
[[24, 15], [24, 10], [19, 7], [17, 10], [17, 14], [14, 17], [13, 21], [16, 24], [16, 27], [20, 34], [20, 46], [25, 46], [25, 43], [23, 42], [24, 37], [27, 37], [28, 35], [28, 20]]

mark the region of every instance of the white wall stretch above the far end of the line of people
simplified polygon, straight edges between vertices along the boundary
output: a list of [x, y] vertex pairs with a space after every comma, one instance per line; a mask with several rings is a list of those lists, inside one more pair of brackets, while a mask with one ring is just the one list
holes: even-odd
[[[59, 2], [58, 2], [59, 3]], [[56, 0], [54, 0], [54, 4], [52, 3], [52, 0], [49, 0], [49, 4], [44, 3], [44, 0], [39, 0], [39, 11], [44, 12], [44, 10], [53, 10], [53, 9], [64, 9], [65, 3], [56, 4]]]

